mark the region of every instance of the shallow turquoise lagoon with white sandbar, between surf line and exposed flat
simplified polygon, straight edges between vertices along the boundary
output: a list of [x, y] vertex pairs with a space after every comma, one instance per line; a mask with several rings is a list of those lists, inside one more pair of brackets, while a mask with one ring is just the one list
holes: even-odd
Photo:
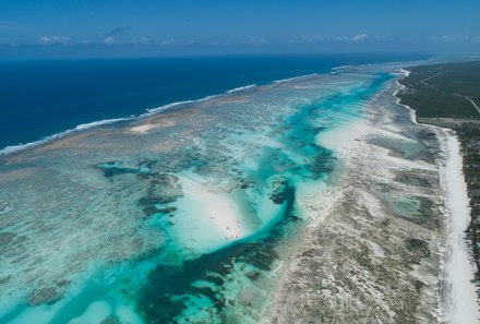
[[389, 79], [255, 86], [1, 157], [0, 323], [255, 323], [336, 166], [315, 137]]

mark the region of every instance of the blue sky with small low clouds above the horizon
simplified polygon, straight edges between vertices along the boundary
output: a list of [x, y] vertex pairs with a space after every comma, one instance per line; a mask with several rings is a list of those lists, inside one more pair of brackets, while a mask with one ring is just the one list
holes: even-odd
[[0, 0], [0, 57], [480, 51], [478, 0]]

